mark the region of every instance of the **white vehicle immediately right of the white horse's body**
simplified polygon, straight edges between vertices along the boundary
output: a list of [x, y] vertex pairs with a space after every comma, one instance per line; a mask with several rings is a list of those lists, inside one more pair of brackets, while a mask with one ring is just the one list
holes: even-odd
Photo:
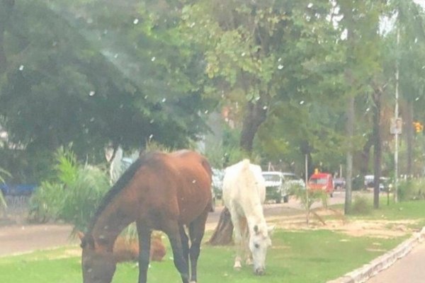
[[266, 181], [266, 200], [274, 200], [276, 203], [288, 202], [289, 190], [285, 185], [285, 175], [279, 171], [264, 171], [263, 178]]

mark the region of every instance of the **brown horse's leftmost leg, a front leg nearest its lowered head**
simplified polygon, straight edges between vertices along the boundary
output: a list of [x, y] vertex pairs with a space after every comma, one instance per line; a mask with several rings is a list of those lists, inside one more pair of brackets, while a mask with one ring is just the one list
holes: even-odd
[[146, 283], [152, 231], [142, 223], [137, 222], [136, 224], [139, 237], [139, 283]]

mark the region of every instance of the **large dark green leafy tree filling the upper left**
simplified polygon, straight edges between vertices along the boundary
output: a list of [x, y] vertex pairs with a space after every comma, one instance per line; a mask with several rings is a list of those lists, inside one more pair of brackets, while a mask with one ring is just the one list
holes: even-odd
[[[133, 2], [132, 9], [125, 6], [130, 9], [126, 13], [137, 11], [138, 1]], [[125, 35], [117, 36], [116, 41], [108, 37], [97, 42], [94, 39], [108, 28], [111, 34], [119, 34], [123, 24], [134, 27], [134, 18], [127, 16], [125, 23], [114, 22], [115, 10], [112, 6], [111, 10], [99, 9], [103, 5], [101, 1], [72, 3], [76, 10], [67, 9], [69, 6], [65, 4], [61, 10], [55, 1], [46, 3], [18, 2], [10, 13], [8, 37], [1, 42], [1, 47], [7, 47], [4, 54], [9, 64], [0, 81], [0, 117], [9, 141], [24, 149], [25, 156], [34, 156], [36, 160], [35, 156], [42, 152], [72, 144], [78, 156], [93, 158], [96, 163], [103, 161], [103, 148], [109, 143], [128, 149], [143, 147], [147, 141], [154, 140], [182, 148], [190, 146], [191, 141], [198, 140], [200, 133], [207, 130], [200, 113], [210, 109], [211, 103], [203, 100], [200, 88], [187, 79], [196, 80], [196, 76], [182, 74], [184, 71], [202, 74], [196, 71], [195, 57], [191, 53], [179, 61], [176, 58], [182, 57], [174, 53], [165, 60], [152, 59], [153, 51], [161, 54], [159, 47], [167, 41], [169, 30], [162, 30], [158, 33], [162, 37], [157, 39], [156, 23], [151, 21], [152, 15], [147, 10], [140, 12], [146, 17], [142, 29], [130, 29]], [[90, 8], [84, 10], [86, 6]], [[1, 13], [4, 11], [1, 9]], [[84, 11], [86, 18], [73, 18], [75, 11]], [[96, 21], [93, 24], [96, 27], [89, 24], [90, 18]], [[5, 19], [1, 17], [1, 21]], [[140, 51], [130, 52], [134, 51], [131, 40], [137, 35], [145, 41]], [[118, 61], [113, 60], [115, 55], [111, 57], [118, 42], [124, 42], [119, 55], [127, 61], [115, 62]], [[108, 49], [109, 45], [114, 48]], [[164, 48], [171, 50], [171, 45], [174, 50], [187, 51], [187, 48], [175, 48], [176, 42]], [[168, 59], [175, 59], [172, 65], [175, 68], [164, 68]], [[135, 68], [144, 72], [125, 71], [126, 66], [134, 66], [131, 62], [139, 61]], [[177, 69], [176, 66], [186, 63], [186, 67]], [[179, 84], [183, 79], [186, 81]]]

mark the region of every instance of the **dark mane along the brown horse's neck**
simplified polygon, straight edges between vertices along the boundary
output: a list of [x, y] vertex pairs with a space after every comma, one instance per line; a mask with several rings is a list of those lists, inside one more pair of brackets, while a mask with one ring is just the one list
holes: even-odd
[[142, 165], [144, 165], [145, 163], [147, 163], [147, 161], [152, 156], [152, 154], [154, 154], [154, 153], [143, 154], [143, 155], [139, 156], [139, 158], [137, 158], [135, 160], [135, 162], [133, 162], [130, 165], [130, 167], [123, 173], [123, 175], [121, 175], [121, 177], [111, 187], [111, 189], [108, 190], [108, 192], [106, 193], [106, 195], [101, 200], [101, 203], [99, 204], [98, 209], [96, 210], [94, 216], [91, 218], [91, 222], [90, 222], [90, 224], [88, 226], [88, 229], [87, 229], [87, 232], [86, 233], [88, 233], [88, 234], [91, 233], [91, 231], [94, 228], [94, 225], [96, 224], [96, 221], [97, 221], [98, 217], [101, 215], [101, 213], [106, 208], [106, 206], [111, 202], [111, 200], [113, 200], [113, 198], [116, 195], [118, 195], [118, 193], [120, 193], [125, 188], [126, 185], [128, 185], [128, 183], [133, 178], [133, 176], [135, 175], [135, 173], [139, 170], [139, 168]]

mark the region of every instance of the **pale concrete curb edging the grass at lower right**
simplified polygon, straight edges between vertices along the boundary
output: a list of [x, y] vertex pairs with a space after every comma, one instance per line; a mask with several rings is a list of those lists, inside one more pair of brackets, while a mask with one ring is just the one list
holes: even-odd
[[348, 272], [346, 275], [339, 277], [337, 279], [328, 281], [327, 283], [363, 283], [366, 282], [370, 277], [373, 277], [378, 272], [387, 269], [394, 264], [400, 258], [403, 258], [404, 255], [407, 255], [417, 243], [425, 238], [425, 227], [418, 233], [414, 233], [412, 237], [399, 244], [396, 248], [390, 250], [389, 252], [381, 255], [378, 258], [375, 258], [368, 264], [363, 265], [362, 267]]

